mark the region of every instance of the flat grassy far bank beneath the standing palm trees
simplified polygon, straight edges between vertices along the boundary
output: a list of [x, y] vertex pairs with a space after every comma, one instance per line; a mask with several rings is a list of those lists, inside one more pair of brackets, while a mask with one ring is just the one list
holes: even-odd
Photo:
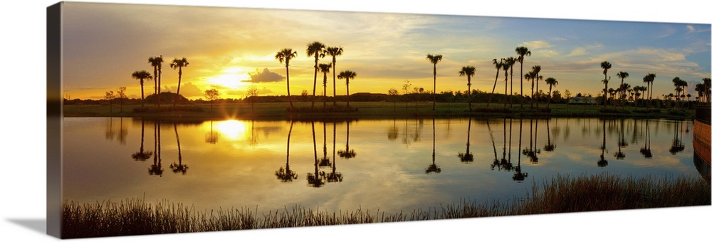
[[345, 102], [339, 102], [337, 107], [331, 103], [317, 103], [311, 109], [311, 102], [295, 102], [295, 110], [288, 110], [288, 104], [282, 102], [255, 103], [254, 110], [248, 103], [216, 103], [164, 105], [161, 108], [147, 105], [64, 105], [65, 117], [162, 117], [162, 118], [192, 118], [210, 119], [246, 119], [246, 120], [287, 120], [287, 119], [329, 119], [329, 118], [407, 118], [407, 117], [640, 117], [640, 118], [673, 118], [689, 119], [694, 110], [682, 109], [648, 109], [645, 107], [608, 107], [596, 105], [565, 105], [553, 104], [547, 108], [540, 105], [539, 109], [525, 105], [505, 107], [503, 104], [474, 103], [470, 111], [467, 103], [440, 102], [432, 110], [428, 102], [351, 102], [347, 110]]

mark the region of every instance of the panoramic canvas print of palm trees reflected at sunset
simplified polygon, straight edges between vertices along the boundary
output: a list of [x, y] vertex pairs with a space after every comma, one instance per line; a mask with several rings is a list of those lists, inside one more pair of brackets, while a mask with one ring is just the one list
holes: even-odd
[[711, 205], [709, 23], [47, 11], [53, 236]]

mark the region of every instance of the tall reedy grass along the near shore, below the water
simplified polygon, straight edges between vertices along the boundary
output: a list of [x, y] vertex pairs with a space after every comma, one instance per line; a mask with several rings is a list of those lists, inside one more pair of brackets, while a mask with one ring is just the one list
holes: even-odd
[[200, 212], [183, 204], [147, 204], [141, 199], [95, 204], [63, 204], [63, 238], [157, 233], [228, 231], [256, 228], [424, 221], [577, 211], [648, 209], [711, 204], [710, 184], [700, 177], [655, 179], [595, 175], [556, 177], [534, 185], [514, 204], [461, 201], [436, 209], [400, 211], [316, 211], [302, 207], [258, 213], [251, 209]]

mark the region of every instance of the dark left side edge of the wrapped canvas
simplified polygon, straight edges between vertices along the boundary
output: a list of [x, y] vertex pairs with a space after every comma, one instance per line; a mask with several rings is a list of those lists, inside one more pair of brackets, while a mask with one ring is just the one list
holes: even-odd
[[47, 224], [46, 233], [61, 238], [62, 6], [47, 7]]

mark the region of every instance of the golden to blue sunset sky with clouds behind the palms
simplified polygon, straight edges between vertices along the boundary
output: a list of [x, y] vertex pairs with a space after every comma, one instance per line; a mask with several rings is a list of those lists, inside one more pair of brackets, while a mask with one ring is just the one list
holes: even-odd
[[[163, 56], [162, 90], [175, 92], [177, 70], [173, 58], [187, 58], [181, 94], [204, 98], [216, 88], [221, 98], [244, 98], [255, 85], [260, 95], [286, 95], [285, 66], [274, 58], [282, 48], [298, 56], [290, 62], [292, 95], [311, 93], [314, 58], [306, 55], [308, 43], [342, 46], [337, 73], [352, 70], [350, 93], [402, 92], [406, 80], [412, 87], [433, 88], [429, 53], [443, 55], [437, 65], [437, 92], [466, 90], [459, 76], [464, 65], [476, 67], [473, 89], [491, 91], [494, 58], [515, 56], [526, 46], [524, 72], [541, 65], [540, 75], [559, 82], [555, 90], [596, 95], [603, 88], [602, 61], [612, 63], [609, 75], [617, 86], [619, 71], [627, 71], [631, 86], [645, 85], [642, 78], [656, 73], [654, 95], [673, 93], [678, 76], [690, 90], [710, 77], [711, 26], [708, 23], [652, 23], [582, 21], [423, 14], [380, 14], [345, 11], [291, 11], [219, 7], [156, 6], [130, 4], [66, 3], [63, 16], [65, 98], [100, 99], [105, 91], [127, 88], [130, 98], [140, 98], [135, 70], [153, 69], [151, 56]], [[320, 63], [330, 63], [331, 58]], [[515, 65], [515, 92], [519, 92], [520, 65]], [[328, 95], [332, 93], [332, 74]], [[318, 73], [317, 94], [323, 74]], [[503, 93], [500, 73], [496, 93]], [[153, 90], [145, 84], [145, 93]], [[528, 92], [528, 82], [524, 81]], [[540, 89], [548, 90], [543, 82]], [[693, 91], [691, 92], [693, 93]], [[337, 80], [337, 94], [345, 83]], [[694, 95], [694, 93], [693, 93]]]

